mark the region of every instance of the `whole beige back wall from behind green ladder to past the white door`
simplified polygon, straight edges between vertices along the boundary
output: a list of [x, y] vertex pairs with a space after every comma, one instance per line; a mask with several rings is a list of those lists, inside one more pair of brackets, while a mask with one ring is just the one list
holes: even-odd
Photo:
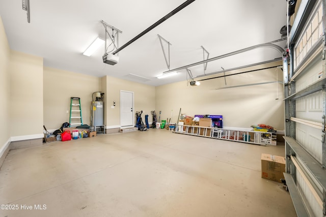
[[[104, 124], [120, 126], [120, 90], [134, 92], [134, 106], [145, 114], [155, 108], [155, 87], [110, 76], [102, 78], [44, 67], [43, 74], [44, 125], [48, 130], [59, 129], [69, 122], [70, 97], [80, 97], [84, 124], [91, 126], [92, 94], [104, 92]], [[115, 108], [113, 101], [116, 102]], [[146, 112], [146, 113], [145, 113]]]

